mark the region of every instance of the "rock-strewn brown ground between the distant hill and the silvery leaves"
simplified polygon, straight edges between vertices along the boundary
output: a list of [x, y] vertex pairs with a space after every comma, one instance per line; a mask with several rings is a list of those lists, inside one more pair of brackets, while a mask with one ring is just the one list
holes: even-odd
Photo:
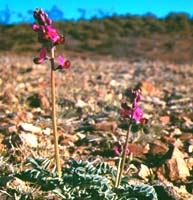
[[[56, 81], [62, 163], [115, 165], [113, 148], [126, 134], [120, 124], [123, 93], [140, 85], [148, 125], [129, 144], [131, 183], [157, 184], [160, 199], [193, 199], [193, 66], [79, 57], [71, 63]], [[36, 191], [34, 199], [41, 199], [38, 188], [9, 174], [23, 170], [29, 156], [54, 156], [49, 63], [1, 55], [0, 74], [0, 197]]]

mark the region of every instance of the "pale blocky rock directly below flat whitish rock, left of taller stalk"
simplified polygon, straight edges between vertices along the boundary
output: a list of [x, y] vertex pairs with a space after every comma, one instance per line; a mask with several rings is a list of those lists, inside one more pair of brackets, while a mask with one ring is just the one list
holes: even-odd
[[21, 133], [20, 138], [23, 142], [23, 144], [30, 146], [32, 148], [38, 147], [38, 138], [36, 135], [32, 133]]

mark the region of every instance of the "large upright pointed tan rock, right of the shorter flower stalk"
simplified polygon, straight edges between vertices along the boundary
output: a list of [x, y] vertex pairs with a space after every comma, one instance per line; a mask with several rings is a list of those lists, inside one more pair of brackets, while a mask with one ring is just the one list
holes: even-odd
[[174, 147], [171, 159], [166, 161], [166, 165], [171, 181], [185, 181], [190, 176], [189, 169], [184, 160], [184, 154], [176, 147]]

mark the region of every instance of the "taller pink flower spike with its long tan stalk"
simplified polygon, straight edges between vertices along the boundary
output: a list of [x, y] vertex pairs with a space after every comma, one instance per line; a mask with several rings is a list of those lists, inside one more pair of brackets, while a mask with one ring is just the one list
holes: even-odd
[[70, 61], [64, 60], [59, 55], [57, 58], [58, 63], [55, 63], [55, 49], [59, 44], [63, 44], [65, 39], [61, 36], [52, 25], [52, 20], [48, 14], [42, 9], [34, 11], [34, 19], [36, 23], [32, 25], [32, 29], [37, 32], [38, 41], [42, 44], [39, 55], [34, 58], [35, 64], [41, 64], [45, 60], [49, 60], [51, 64], [51, 96], [52, 96], [52, 126], [54, 134], [54, 149], [55, 161], [58, 175], [61, 175], [61, 164], [58, 148], [58, 133], [56, 124], [56, 109], [55, 109], [55, 71], [58, 69], [67, 69], [70, 67]]

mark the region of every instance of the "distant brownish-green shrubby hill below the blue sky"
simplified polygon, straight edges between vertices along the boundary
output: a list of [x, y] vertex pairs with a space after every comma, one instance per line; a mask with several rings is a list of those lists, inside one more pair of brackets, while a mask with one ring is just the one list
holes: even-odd
[[[170, 13], [159, 19], [144, 16], [112, 16], [103, 19], [56, 21], [70, 54], [110, 55], [113, 58], [193, 61], [193, 19], [186, 13]], [[40, 45], [30, 24], [0, 25], [0, 52], [30, 53]]]

